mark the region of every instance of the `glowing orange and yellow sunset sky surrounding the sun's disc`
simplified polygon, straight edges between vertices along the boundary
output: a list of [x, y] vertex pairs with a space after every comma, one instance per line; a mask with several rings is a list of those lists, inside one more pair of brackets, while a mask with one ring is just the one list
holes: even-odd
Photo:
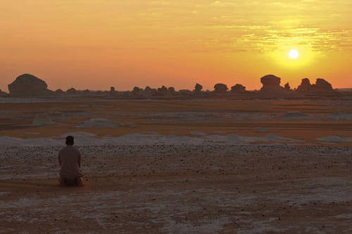
[[352, 88], [351, 0], [1, 0], [0, 12], [4, 91], [23, 73], [52, 90], [251, 90], [265, 74]]

